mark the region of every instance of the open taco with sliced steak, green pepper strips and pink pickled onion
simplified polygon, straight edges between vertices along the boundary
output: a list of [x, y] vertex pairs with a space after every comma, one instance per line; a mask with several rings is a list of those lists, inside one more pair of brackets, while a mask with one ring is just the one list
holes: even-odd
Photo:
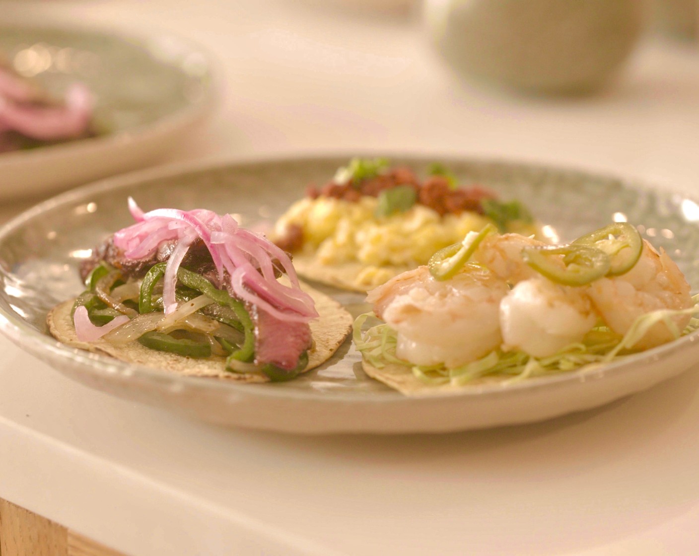
[[59, 341], [190, 376], [289, 380], [338, 349], [352, 317], [301, 284], [286, 252], [231, 215], [161, 208], [82, 262], [87, 289], [48, 314]]

